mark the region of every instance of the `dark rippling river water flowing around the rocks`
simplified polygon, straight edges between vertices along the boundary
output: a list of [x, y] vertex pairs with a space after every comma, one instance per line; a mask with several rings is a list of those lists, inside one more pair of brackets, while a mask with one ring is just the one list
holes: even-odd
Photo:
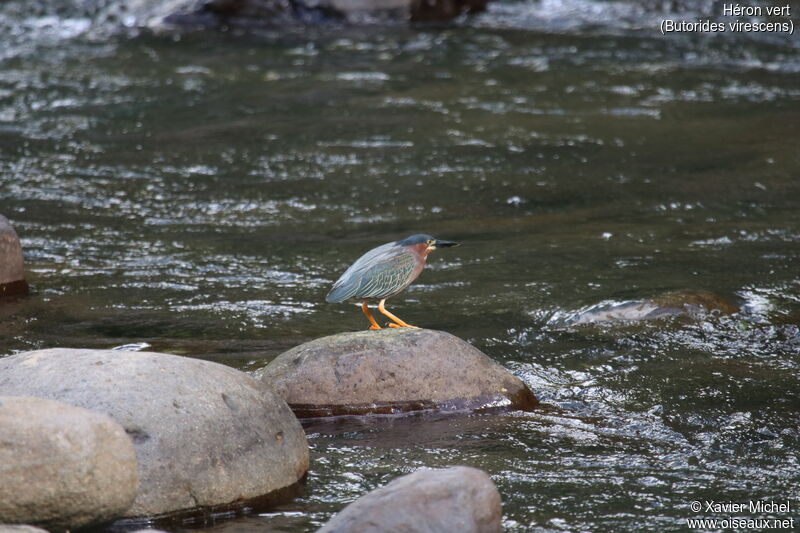
[[[437, 28], [99, 41], [19, 6], [0, 7], [0, 213], [33, 294], [0, 306], [0, 354], [146, 342], [253, 371], [364, 328], [330, 284], [426, 232], [464, 244], [390, 309], [553, 406], [311, 426], [303, 495], [207, 531], [313, 531], [453, 464], [492, 476], [508, 531], [800, 508], [796, 37], [663, 37], [626, 2], [548, 1]], [[563, 320], [684, 290], [741, 311]]]

